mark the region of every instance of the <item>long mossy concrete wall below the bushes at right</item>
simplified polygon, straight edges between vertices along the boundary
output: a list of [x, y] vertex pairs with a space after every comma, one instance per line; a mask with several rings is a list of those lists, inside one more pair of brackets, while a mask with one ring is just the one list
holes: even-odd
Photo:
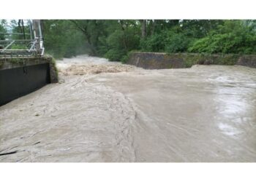
[[256, 55], [130, 52], [127, 64], [146, 69], [190, 68], [195, 64], [241, 65], [256, 68]]

